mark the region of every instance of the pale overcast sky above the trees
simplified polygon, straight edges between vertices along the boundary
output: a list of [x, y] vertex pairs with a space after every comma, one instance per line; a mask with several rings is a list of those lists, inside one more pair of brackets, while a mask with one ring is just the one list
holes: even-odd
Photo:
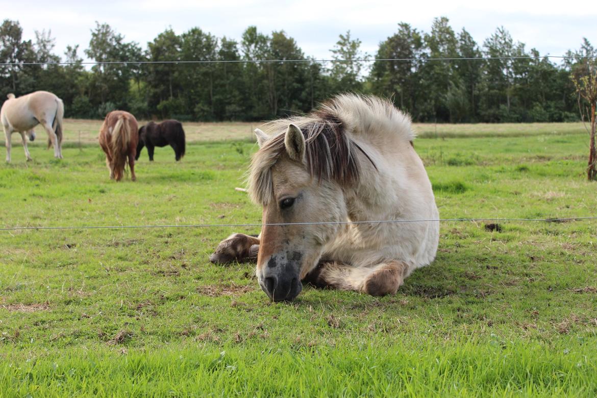
[[563, 55], [580, 47], [586, 37], [597, 45], [597, 6], [593, 1], [400, 1], [367, 0], [81, 0], [4, 1], [1, 18], [19, 20], [25, 39], [35, 30], [51, 29], [55, 53], [67, 45], [88, 47], [95, 21], [110, 24], [127, 41], [146, 48], [158, 33], [172, 27], [183, 33], [191, 27], [239, 40], [256, 25], [260, 32], [285, 30], [305, 55], [329, 58], [340, 33], [350, 29], [362, 50], [374, 55], [380, 41], [392, 35], [401, 21], [429, 32], [434, 17], [450, 18], [452, 28], [463, 27], [482, 44], [498, 26], [515, 41], [537, 48], [541, 55]]

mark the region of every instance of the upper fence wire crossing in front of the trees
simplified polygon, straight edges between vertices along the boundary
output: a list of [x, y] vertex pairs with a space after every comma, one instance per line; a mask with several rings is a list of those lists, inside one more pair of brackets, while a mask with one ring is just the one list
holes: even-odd
[[535, 59], [593, 59], [597, 55], [527, 55], [524, 57], [446, 57], [446, 58], [353, 58], [353, 59], [275, 59], [275, 60], [174, 60], [174, 61], [82, 61], [82, 62], [4, 62], [0, 66], [21, 65], [112, 65], [112, 64], [216, 64], [216, 63], [325, 63], [325, 62], [376, 62], [376, 61], [492, 61], [492, 60], [535, 60]]

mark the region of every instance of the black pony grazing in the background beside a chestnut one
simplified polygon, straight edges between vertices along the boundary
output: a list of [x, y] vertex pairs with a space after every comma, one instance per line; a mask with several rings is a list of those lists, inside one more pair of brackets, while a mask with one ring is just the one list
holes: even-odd
[[170, 145], [174, 149], [176, 160], [184, 156], [184, 130], [183, 125], [176, 120], [163, 121], [160, 124], [149, 122], [139, 129], [139, 144], [137, 144], [137, 156], [139, 159], [143, 146], [147, 147], [149, 161], [153, 162], [153, 149]]

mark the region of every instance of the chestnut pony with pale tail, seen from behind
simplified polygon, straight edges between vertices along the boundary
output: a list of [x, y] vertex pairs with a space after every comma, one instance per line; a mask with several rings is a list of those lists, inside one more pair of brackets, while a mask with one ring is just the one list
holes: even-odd
[[131, 169], [131, 180], [135, 181], [135, 153], [137, 150], [137, 119], [124, 110], [113, 110], [106, 115], [100, 128], [100, 146], [106, 152], [106, 165], [110, 178], [120, 181], [127, 164]]

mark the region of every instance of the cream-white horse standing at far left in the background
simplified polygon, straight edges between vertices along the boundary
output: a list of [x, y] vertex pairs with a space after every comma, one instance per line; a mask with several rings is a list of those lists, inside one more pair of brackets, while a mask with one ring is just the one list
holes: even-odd
[[11, 141], [13, 132], [18, 131], [23, 140], [23, 147], [27, 160], [31, 160], [27, 139], [35, 139], [33, 127], [41, 124], [48, 133], [48, 146], [54, 146], [54, 158], [62, 158], [62, 119], [64, 118], [64, 105], [62, 100], [51, 92], [35, 91], [15, 98], [8, 94], [8, 100], [2, 104], [0, 121], [6, 136], [6, 161], [10, 162]]

